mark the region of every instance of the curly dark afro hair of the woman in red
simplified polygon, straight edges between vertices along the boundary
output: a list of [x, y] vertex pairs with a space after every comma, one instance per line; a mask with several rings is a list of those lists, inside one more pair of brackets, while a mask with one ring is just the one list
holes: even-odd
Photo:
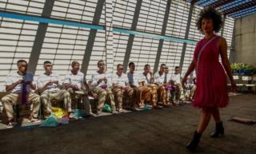
[[[206, 7], [201, 10], [198, 21], [197, 21], [197, 27], [198, 30], [202, 32], [202, 19], [212, 19], [214, 22], [214, 32], [218, 33], [219, 30], [222, 28], [222, 14], [220, 14], [217, 10], [214, 9], [214, 7]], [[203, 32], [202, 32], [203, 33]]]

